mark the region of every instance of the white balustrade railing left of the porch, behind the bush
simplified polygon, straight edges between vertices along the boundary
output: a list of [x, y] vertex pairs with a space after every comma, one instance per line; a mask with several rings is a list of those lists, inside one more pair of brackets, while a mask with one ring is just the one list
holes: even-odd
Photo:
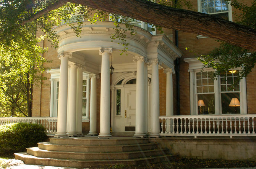
[[8, 123], [41, 124], [47, 134], [55, 134], [57, 131], [57, 117], [0, 117], [0, 125]]

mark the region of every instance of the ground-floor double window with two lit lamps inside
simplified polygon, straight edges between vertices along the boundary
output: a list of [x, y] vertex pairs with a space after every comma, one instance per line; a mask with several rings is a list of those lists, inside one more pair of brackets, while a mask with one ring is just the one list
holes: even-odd
[[[239, 70], [229, 70], [217, 77], [217, 80], [212, 78], [212, 70], [191, 73], [195, 83], [192, 89], [194, 101], [191, 100], [193, 114], [246, 114], [246, 89], [241, 87], [242, 84], [245, 86], [245, 79], [235, 84], [234, 88], [231, 86], [236, 81], [238, 73]], [[238, 100], [235, 106], [231, 104], [232, 99]]]

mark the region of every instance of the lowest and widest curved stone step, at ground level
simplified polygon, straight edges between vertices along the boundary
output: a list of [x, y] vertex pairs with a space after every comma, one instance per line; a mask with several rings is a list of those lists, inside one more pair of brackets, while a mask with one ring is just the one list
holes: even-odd
[[53, 159], [41, 158], [23, 153], [15, 153], [15, 158], [24, 161], [25, 164], [44, 165], [44, 166], [60, 166], [60, 167], [89, 167], [103, 165], [137, 165], [144, 163], [158, 163], [168, 161], [171, 155], [152, 156], [147, 158], [133, 158], [120, 160], [73, 160], [73, 159]]

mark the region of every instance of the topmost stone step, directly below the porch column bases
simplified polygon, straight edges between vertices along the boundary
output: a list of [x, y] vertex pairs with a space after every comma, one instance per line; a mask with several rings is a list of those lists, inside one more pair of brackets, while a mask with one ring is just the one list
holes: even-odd
[[146, 139], [88, 139], [88, 137], [76, 138], [50, 138], [50, 143], [70, 144], [70, 145], [127, 145], [127, 144], [143, 144], [148, 143]]

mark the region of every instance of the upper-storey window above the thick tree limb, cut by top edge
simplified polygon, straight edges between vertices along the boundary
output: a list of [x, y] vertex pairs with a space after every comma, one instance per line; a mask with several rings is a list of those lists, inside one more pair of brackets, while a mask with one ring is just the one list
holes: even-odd
[[232, 21], [231, 5], [226, 0], [198, 0], [198, 11]]

